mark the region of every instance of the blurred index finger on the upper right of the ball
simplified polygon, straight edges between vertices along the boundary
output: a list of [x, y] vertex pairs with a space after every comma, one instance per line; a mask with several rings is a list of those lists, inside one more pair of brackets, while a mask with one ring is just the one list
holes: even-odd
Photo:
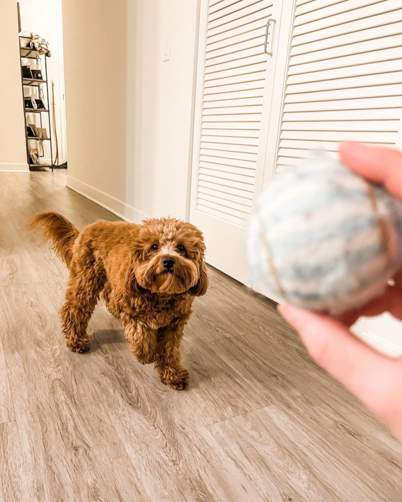
[[402, 152], [384, 147], [368, 147], [362, 143], [341, 143], [341, 161], [355, 173], [402, 198]]

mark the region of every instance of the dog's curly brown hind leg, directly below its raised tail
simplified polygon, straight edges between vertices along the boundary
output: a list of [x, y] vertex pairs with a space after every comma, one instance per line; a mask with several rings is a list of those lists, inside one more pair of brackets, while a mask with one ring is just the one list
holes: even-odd
[[89, 349], [87, 326], [105, 284], [103, 268], [91, 264], [88, 268], [70, 272], [66, 300], [60, 310], [67, 347], [73, 352]]

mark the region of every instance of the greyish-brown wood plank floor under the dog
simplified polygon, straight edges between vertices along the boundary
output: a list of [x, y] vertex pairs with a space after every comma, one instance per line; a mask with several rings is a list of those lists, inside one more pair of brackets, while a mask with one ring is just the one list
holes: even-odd
[[275, 306], [209, 268], [175, 392], [99, 305], [67, 350], [67, 270], [27, 219], [117, 218], [65, 173], [0, 173], [0, 500], [398, 502], [402, 445], [314, 365]]

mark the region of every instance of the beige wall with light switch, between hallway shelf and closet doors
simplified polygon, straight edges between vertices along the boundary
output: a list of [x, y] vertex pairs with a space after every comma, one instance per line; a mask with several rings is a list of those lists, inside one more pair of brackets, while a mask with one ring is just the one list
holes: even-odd
[[63, 3], [68, 185], [132, 221], [186, 217], [196, 14], [196, 0]]

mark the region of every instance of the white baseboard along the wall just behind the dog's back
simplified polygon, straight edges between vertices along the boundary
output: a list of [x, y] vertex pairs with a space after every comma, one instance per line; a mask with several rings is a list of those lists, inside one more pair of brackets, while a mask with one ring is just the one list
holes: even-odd
[[137, 210], [135, 207], [71, 176], [67, 176], [67, 186], [69, 189], [74, 190], [74, 192], [83, 195], [87, 199], [92, 200], [92, 202], [96, 202], [96, 204], [122, 218], [122, 220], [140, 223], [142, 220], [150, 218], [149, 215]]

